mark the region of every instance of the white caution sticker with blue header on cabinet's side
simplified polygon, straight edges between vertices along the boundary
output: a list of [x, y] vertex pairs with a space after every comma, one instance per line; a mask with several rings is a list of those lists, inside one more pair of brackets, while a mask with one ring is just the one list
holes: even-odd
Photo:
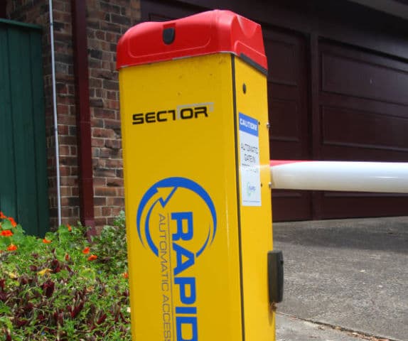
[[258, 121], [240, 113], [240, 171], [242, 206], [261, 206]]

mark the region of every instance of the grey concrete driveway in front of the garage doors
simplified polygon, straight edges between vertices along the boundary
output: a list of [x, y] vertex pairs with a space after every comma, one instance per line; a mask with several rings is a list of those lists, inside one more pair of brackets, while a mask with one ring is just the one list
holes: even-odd
[[274, 224], [279, 341], [408, 340], [408, 217]]

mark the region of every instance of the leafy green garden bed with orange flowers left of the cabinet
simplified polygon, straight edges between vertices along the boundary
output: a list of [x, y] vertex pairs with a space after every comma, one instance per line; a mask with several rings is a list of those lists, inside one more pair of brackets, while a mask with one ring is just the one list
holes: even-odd
[[124, 215], [44, 239], [0, 215], [0, 341], [131, 340]]

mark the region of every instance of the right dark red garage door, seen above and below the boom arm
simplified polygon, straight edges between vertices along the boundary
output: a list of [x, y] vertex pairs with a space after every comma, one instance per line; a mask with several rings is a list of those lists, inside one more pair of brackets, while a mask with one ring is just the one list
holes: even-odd
[[[408, 161], [408, 64], [319, 43], [316, 158]], [[407, 195], [318, 193], [316, 218], [407, 215]]]

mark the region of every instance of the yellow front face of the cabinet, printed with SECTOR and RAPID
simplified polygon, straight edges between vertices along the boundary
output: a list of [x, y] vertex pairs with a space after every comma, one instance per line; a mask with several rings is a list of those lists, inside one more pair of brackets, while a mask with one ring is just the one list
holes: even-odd
[[[195, 264], [180, 274], [195, 278], [196, 300], [190, 308], [196, 308], [197, 313], [190, 315], [197, 317], [197, 340], [241, 340], [231, 57], [217, 54], [129, 67], [121, 70], [119, 81], [133, 337], [139, 341], [177, 340], [174, 311], [180, 305], [181, 286], [175, 285], [171, 274], [176, 252], [156, 256], [146, 246], [143, 231], [141, 244], [136, 210], [152, 185], [181, 177], [194, 181], [208, 193], [217, 216], [212, 244], [208, 243], [203, 253], [196, 256]], [[207, 116], [181, 118], [182, 109], [200, 112], [202, 109], [196, 108], [201, 107], [206, 108]], [[146, 114], [149, 112], [155, 114]], [[188, 117], [190, 109], [184, 114]], [[134, 124], [140, 117], [144, 123]], [[169, 186], [156, 197], [168, 197]], [[146, 204], [148, 207], [151, 203]], [[171, 212], [193, 212], [194, 238], [181, 245], [196, 253], [208, 237], [211, 224], [203, 200], [191, 190], [178, 188], [165, 207], [154, 207], [151, 229], [160, 227], [162, 219], [167, 238], [177, 230], [177, 221], [169, 219]], [[151, 238], [158, 244], [160, 235], [156, 232], [151, 232]], [[168, 240], [161, 246], [171, 250], [172, 242]], [[182, 261], [186, 261], [185, 256]], [[166, 274], [173, 277], [172, 295], [162, 287]], [[171, 296], [169, 318], [165, 303]], [[171, 325], [166, 324], [168, 319]], [[187, 329], [183, 331], [186, 340], [195, 340]]]

